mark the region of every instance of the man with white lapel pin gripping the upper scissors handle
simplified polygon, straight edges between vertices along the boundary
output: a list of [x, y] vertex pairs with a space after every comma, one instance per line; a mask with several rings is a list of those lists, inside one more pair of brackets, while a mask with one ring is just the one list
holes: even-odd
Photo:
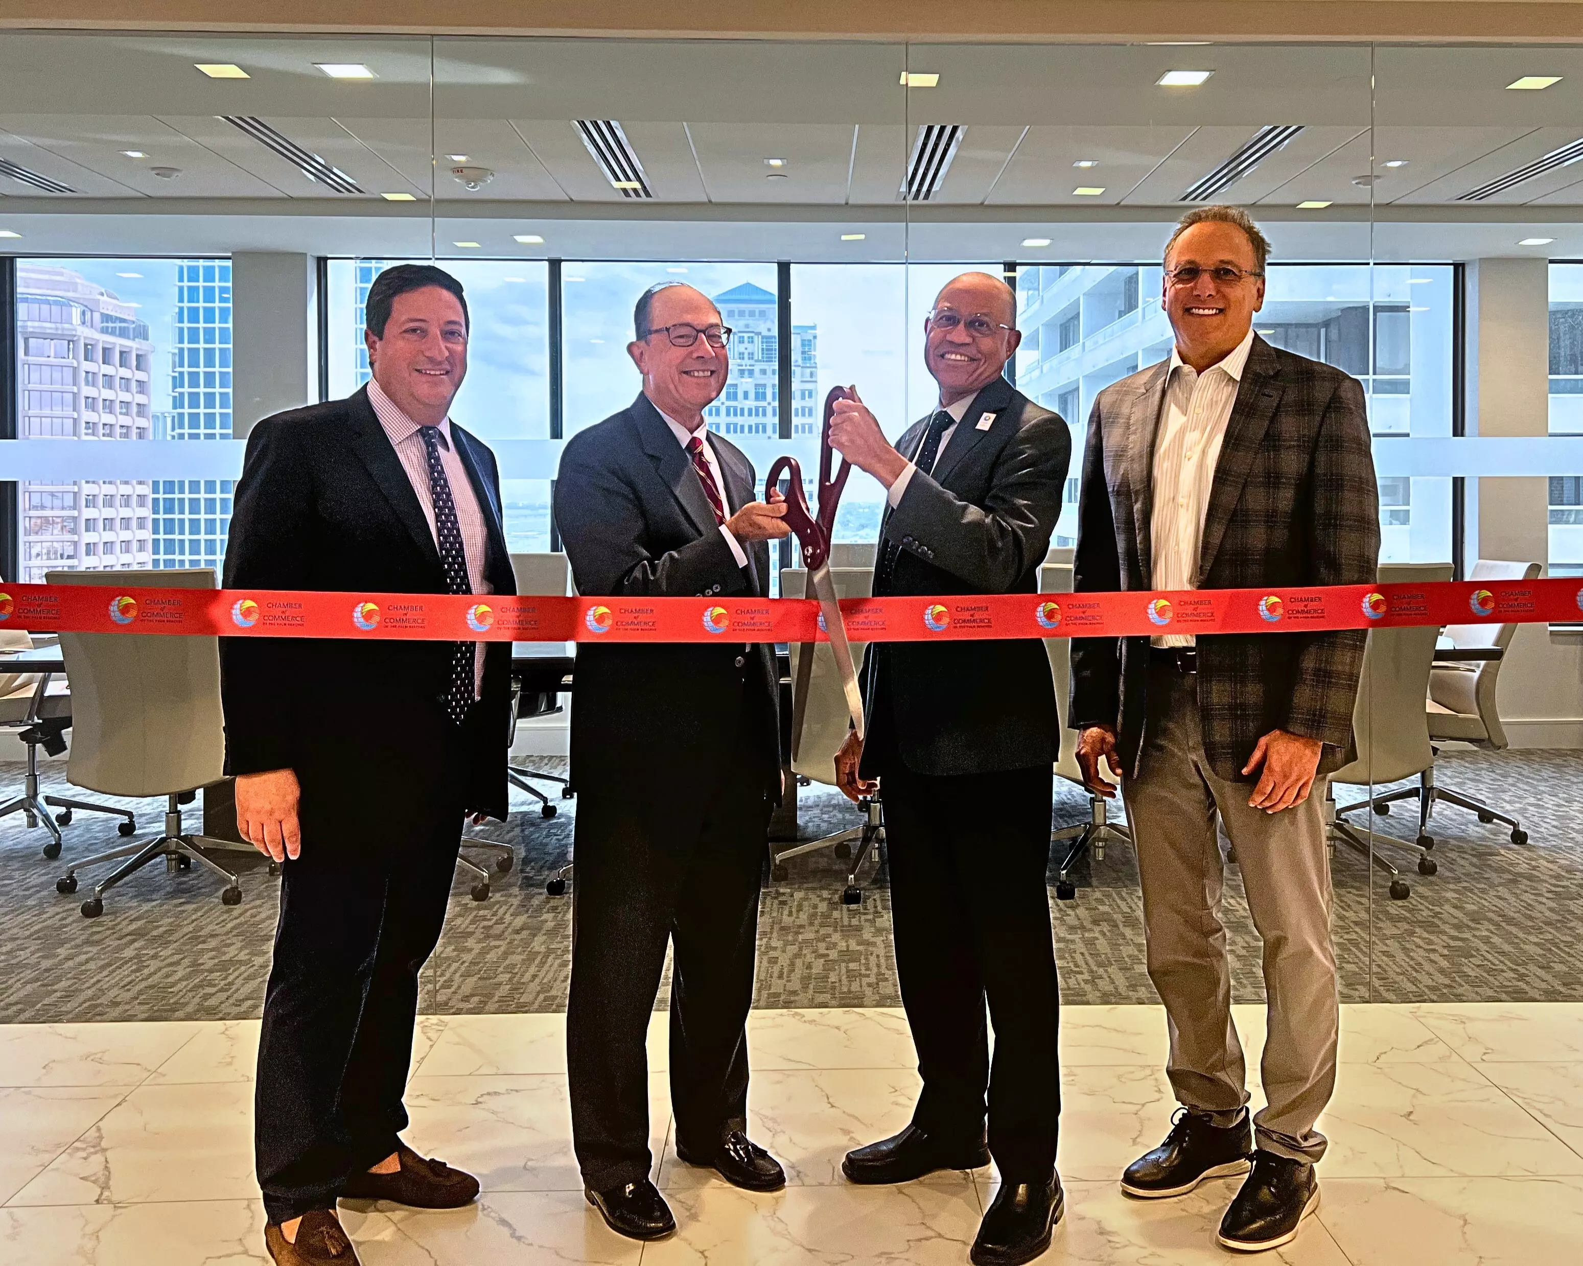
[[[924, 334], [934, 415], [894, 448], [860, 400], [837, 402], [831, 426], [831, 443], [888, 491], [874, 595], [1035, 593], [1072, 438], [1002, 377], [1021, 339], [1016, 296], [999, 277], [964, 274], [936, 298]], [[842, 1169], [852, 1182], [905, 1182], [994, 1157], [1002, 1184], [972, 1258], [1029, 1261], [1062, 1212], [1050, 658], [1038, 641], [875, 642], [864, 704], [867, 744], [853, 733], [836, 775], [852, 798], [877, 779], [885, 798], [896, 972], [923, 1094], [912, 1125], [848, 1152]], [[985, 864], [991, 885], [975, 875]]]

